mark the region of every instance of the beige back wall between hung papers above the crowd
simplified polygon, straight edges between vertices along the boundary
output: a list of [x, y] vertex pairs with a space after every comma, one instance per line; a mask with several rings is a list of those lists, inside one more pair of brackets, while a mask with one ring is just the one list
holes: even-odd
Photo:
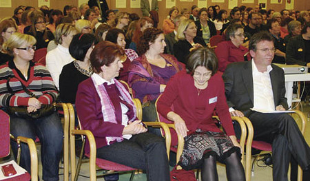
[[[115, 0], [106, 0], [109, 4], [109, 7], [111, 9], [116, 9], [116, 1]], [[126, 0], [127, 8], [119, 9], [120, 11], [127, 11], [127, 12], [136, 12], [138, 15], [141, 16], [141, 10], [138, 8], [130, 8], [130, 1]], [[175, 0], [176, 6], [181, 10], [182, 8], [190, 8], [192, 5], [197, 4], [198, 0], [193, 0], [192, 2], [186, 2], [186, 1], [180, 1]], [[225, 0], [225, 3], [212, 3], [211, 0], [207, 0], [207, 6], [218, 4], [221, 9], [228, 9], [228, 2], [229, 0]], [[273, 9], [276, 11], [280, 11], [285, 8], [285, 1], [282, 0], [282, 4], [270, 4], [270, 0], [267, 0], [267, 10]], [[79, 0], [50, 0], [50, 7], [54, 9], [63, 10], [63, 7], [65, 5], [75, 5], [78, 6]], [[254, 7], [258, 3], [258, 0], [254, 0], [254, 3], [244, 3], [247, 7]], [[19, 5], [24, 6], [34, 6], [35, 8], [38, 7], [38, 1], [37, 0], [12, 0], [12, 8], [0, 8], [0, 18], [3, 17], [11, 17], [14, 8], [16, 8]], [[242, 5], [242, 0], [238, 0], [238, 6]], [[169, 9], [166, 9], [166, 1], [158, 1], [159, 6], [159, 19], [160, 23], [158, 24], [161, 27], [161, 24], [163, 23], [163, 19], [167, 17], [167, 14], [169, 12]], [[294, 10], [308, 10], [310, 9], [310, 3], [309, 0], [296, 0], [294, 3]]]

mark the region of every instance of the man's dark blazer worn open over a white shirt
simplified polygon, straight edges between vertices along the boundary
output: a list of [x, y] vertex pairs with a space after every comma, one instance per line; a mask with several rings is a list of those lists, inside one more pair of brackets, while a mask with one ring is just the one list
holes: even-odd
[[[242, 111], [245, 116], [251, 113], [254, 107], [254, 85], [252, 76], [252, 61], [231, 63], [223, 74], [225, 82], [225, 94], [229, 107]], [[269, 73], [273, 91], [273, 100], [276, 106], [282, 105], [288, 109], [287, 98], [285, 98], [285, 75], [283, 70], [271, 64]]]

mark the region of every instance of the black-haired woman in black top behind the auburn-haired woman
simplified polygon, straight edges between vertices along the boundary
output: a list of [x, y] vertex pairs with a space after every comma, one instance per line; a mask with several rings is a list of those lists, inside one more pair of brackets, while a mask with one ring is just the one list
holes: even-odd
[[93, 34], [76, 34], [69, 46], [70, 55], [74, 61], [64, 65], [59, 76], [59, 93], [63, 103], [75, 104], [79, 83], [92, 76], [90, 53], [94, 49]]

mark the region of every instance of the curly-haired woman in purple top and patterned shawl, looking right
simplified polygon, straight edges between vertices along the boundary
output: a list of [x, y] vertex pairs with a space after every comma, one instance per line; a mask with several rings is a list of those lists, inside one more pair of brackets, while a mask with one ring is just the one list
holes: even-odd
[[[156, 121], [155, 101], [165, 90], [170, 77], [182, 67], [174, 56], [163, 54], [165, 48], [163, 31], [147, 28], [138, 43], [139, 58], [132, 61], [128, 82], [143, 107], [143, 121]], [[159, 129], [150, 129], [161, 135]]]

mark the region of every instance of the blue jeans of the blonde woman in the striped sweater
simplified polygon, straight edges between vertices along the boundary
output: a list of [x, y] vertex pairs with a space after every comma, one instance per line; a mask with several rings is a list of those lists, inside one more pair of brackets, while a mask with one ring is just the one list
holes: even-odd
[[[59, 180], [59, 162], [63, 147], [63, 127], [58, 114], [54, 113], [37, 120], [25, 120], [16, 116], [10, 117], [10, 132], [13, 136], [25, 136], [41, 142], [41, 160], [43, 180]], [[17, 143], [11, 141], [14, 156], [17, 156]], [[21, 167], [31, 171], [28, 145], [21, 145]]]

